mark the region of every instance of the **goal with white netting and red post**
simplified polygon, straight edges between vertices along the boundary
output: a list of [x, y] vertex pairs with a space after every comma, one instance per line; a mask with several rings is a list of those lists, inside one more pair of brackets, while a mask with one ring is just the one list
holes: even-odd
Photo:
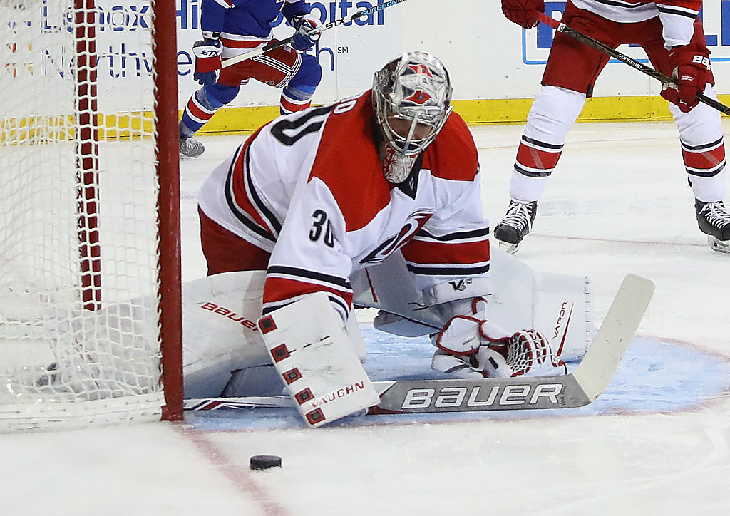
[[0, 431], [181, 417], [160, 4], [0, 0]]

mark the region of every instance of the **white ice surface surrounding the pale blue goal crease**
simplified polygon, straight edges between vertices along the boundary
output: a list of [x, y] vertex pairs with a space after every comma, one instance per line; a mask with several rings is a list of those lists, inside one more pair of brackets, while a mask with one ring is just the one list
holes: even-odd
[[[520, 131], [473, 128], [493, 223], [507, 207]], [[196, 188], [244, 138], [203, 137], [204, 156], [182, 163], [184, 279], [205, 272]], [[575, 126], [517, 256], [591, 277], [598, 321], [626, 273], [650, 278], [639, 336], [730, 363], [730, 255], [710, 250], [696, 226], [671, 123]], [[0, 515], [729, 514], [730, 377], [723, 385], [661, 413], [4, 435]], [[283, 468], [250, 471], [258, 453], [281, 455]]]

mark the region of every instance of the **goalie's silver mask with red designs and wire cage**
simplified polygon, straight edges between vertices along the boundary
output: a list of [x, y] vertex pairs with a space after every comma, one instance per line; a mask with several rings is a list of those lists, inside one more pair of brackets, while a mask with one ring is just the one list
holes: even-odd
[[397, 184], [449, 118], [449, 74], [434, 55], [407, 52], [375, 72], [372, 98], [383, 174]]

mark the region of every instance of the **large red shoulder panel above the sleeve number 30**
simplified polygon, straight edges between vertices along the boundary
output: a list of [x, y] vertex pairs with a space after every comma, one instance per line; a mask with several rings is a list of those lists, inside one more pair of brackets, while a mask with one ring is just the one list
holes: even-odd
[[327, 185], [345, 217], [345, 231], [366, 226], [391, 200], [372, 137], [371, 113], [369, 91], [332, 109], [309, 178]]

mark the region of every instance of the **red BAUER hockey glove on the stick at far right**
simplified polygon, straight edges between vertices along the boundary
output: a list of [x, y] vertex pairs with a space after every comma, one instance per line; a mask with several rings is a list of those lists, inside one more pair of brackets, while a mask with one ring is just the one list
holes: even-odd
[[712, 83], [710, 51], [694, 43], [674, 47], [669, 51], [669, 63], [676, 84], [664, 83], [661, 96], [676, 104], [683, 113], [690, 112], [699, 104], [697, 95], [704, 91], [707, 82]]

